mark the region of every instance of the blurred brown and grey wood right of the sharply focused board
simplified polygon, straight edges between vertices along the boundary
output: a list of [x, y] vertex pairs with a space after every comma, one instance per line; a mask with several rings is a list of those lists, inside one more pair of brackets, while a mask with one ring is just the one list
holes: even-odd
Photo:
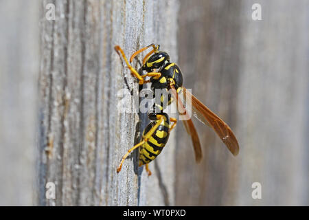
[[[309, 204], [308, 10], [308, 1], [181, 1], [184, 85], [231, 126], [240, 155], [196, 121], [205, 146], [196, 165], [178, 129], [176, 205]], [[255, 181], [262, 199], [251, 197]]]

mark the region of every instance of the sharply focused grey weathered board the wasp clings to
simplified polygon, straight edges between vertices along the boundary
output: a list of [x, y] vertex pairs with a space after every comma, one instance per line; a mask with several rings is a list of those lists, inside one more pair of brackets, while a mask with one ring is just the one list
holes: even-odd
[[[53, 3], [56, 20], [41, 20], [38, 205], [174, 204], [174, 135], [150, 164], [151, 177], [137, 169], [136, 151], [116, 173], [147, 118], [117, 109], [120, 89], [138, 89], [113, 47], [130, 56], [159, 43], [176, 61], [176, 1]], [[56, 199], [45, 199], [47, 182], [56, 184]]]

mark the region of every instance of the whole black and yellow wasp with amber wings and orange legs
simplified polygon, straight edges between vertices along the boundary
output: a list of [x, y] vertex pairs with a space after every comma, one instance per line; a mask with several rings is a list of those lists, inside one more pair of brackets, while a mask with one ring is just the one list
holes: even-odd
[[[132, 63], [137, 54], [144, 52], [144, 50], [147, 50], [150, 47], [152, 47], [152, 50], [143, 58], [141, 66], [141, 70], [145, 71], [146, 74], [140, 75], [130, 63]], [[201, 161], [203, 157], [201, 142], [198, 138], [198, 133], [192, 119], [188, 116], [187, 109], [192, 109], [193, 115], [203, 122], [203, 124], [214, 129], [229, 151], [235, 156], [238, 155], [239, 145], [233, 131], [231, 131], [230, 127], [221, 120], [218, 115], [212, 112], [200, 100], [191, 94], [190, 91], [187, 91], [187, 89], [183, 87], [183, 75], [181, 69], [176, 63], [170, 62], [170, 56], [168, 53], [160, 51], [159, 47], [159, 45], [156, 46], [152, 43], [147, 47], [137, 50], [137, 52], [130, 56], [129, 63], [122, 48], [119, 47], [119, 45], [115, 46], [116, 52], [124, 58], [130, 72], [137, 78], [137, 80], [139, 80], [139, 85], [151, 83], [152, 89], [165, 89], [166, 91], [171, 91], [170, 94], [172, 94], [172, 97], [161, 95], [161, 103], [155, 103], [153, 106], [153, 109], [159, 108], [159, 111], [148, 112], [148, 118], [152, 122], [150, 122], [148, 126], [146, 126], [146, 129], [144, 129], [143, 135], [141, 136], [141, 142], [133, 146], [133, 148], [130, 148], [124, 157], [122, 157], [122, 161], [117, 168], [117, 173], [122, 169], [124, 159], [126, 159], [126, 157], [128, 157], [128, 155], [130, 155], [130, 153], [136, 148], [139, 148], [139, 166], [146, 165], [146, 171], [148, 175], [151, 175], [148, 164], [161, 153], [165, 144], [168, 142], [170, 131], [174, 129], [177, 122], [176, 118], [171, 118], [167, 113], [163, 112], [164, 101], [171, 104], [173, 100], [176, 100], [179, 114], [187, 115], [185, 120], [183, 120], [183, 124], [187, 133], [191, 136], [196, 162]], [[150, 77], [150, 79], [145, 80], [146, 77]], [[181, 98], [179, 98], [181, 92], [183, 92], [185, 96], [189, 96], [191, 102], [184, 103]]]

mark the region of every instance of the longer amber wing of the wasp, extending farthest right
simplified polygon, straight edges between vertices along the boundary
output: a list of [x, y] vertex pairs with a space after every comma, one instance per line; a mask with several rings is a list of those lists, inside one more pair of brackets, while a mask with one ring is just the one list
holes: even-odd
[[[196, 118], [198, 117], [198, 120], [201, 120], [201, 122], [204, 122], [204, 124], [211, 126], [211, 128], [214, 129], [214, 131], [216, 131], [218, 136], [221, 138], [222, 142], [225, 143], [229, 151], [231, 151], [231, 153], [235, 156], [238, 155], [238, 141], [233, 134], [233, 131], [231, 131], [229, 125], [223, 122], [218, 117], [218, 115], [208, 109], [200, 100], [193, 96], [190, 91], [187, 91], [185, 87], [183, 87], [183, 94], [185, 95], [185, 97], [191, 98], [193, 115]], [[189, 102], [187, 102], [186, 104], [188, 103]]]

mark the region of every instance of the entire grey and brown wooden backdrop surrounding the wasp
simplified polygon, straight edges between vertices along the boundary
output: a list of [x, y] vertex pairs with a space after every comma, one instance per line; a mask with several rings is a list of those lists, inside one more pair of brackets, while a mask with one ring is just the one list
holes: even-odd
[[[45, 20], [46, 3], [56, 21]], [[251, 20], [253, 3], [181, 1], [177, 13], [176, 1], [1, 1], [0, 205], [31, 205], [32, 190], [38, 205], [308, 205], [308, 1], [259, 1], [262, 21]], [[179, 123], [152, 177], [138, 175], [136, 153], [116, 175], [147, 122], [114, 107], [115, 91], [136, 83], [113, 46], [129, 55], [152, 42], [179, 54], [185, 86], [233, 128], [238, 157], [196, 121], [205, 145], [196, 165]], [[56, 200], [45, 199], [47, 181]]]

